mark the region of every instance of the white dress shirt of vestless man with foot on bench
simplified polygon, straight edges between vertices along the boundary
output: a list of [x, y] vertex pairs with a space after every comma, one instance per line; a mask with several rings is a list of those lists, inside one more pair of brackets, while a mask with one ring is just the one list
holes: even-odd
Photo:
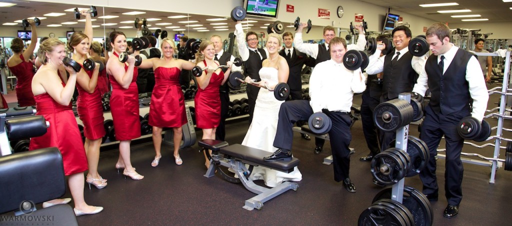
[[319, 63], [309, 79], [309, 105], [313, 112], [350, 112], [354, 93], [366, 89], [365, 79], [360, 68], [351, 71], [332, 59]]

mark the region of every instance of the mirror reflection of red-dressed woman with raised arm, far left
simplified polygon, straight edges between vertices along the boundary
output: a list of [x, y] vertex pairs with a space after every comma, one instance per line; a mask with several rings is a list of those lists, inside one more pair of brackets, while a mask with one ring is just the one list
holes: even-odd
[[[34, 77], [34, 65], [29, 61], [30, 56], [34, 53], [37, 44], [37, 32], [34, 20], [30, 19], [29, 24], [32, 30], [30, 45], [23, 51], [25, 45], [21, 38], [14, 38], [11, 42], [12, 56], [7, 60], [7, 67], [16, 76], [16, 97], [18, 98], [19, 107], [34, 106], [34, 94], [30, 83]], [[22, 53], [23, 51], [23, 53]]]

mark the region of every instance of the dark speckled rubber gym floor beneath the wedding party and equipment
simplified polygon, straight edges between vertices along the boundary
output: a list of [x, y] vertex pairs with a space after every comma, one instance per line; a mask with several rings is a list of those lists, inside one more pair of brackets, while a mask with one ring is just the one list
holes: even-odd
[[[492, 96], [489, 109], [496, 106], [497, 98]], [[354, 102], [360, 104], [360, 96], [356, 96]], [[496, 126], [497, 119], [488, 120], [492, 127]], [[505, 127], [512, 128], [510, 121]], [[247, 128], [247, 122], [227, 125], [227, 141], [240, 143]], [[410, 134], [418, 136], [417, 126], [410, 128]], [[201, 132], [197, 135], [200, 139]], [[512, 137], [509, 132], [504, 136]], [[322, 164], [323, 158], [331, 154], [329, 142], [321, 154], [315, 155], [314, 140], [304, 140], [295, 133], [292, 151], [301, 160], [298, 166], [303, 174], [303, 180], [298, 182], [300, 187], [265, 202], [261, 210], [253, 211], [242, 208], [246, 199], [255, 196], [242, 184], [230, 183], [219, 174], [211, 178], [203, 176], [206, 168], [197, 143], [180, 151], [182, 166], [174, 163], [171, 148], [163, 146], [163, 158], [156, 168], [150, 166], [155, 155], [153, 143], [133, 145], [133, 166], [145, 176], [139, 181], [124, 179], [117, 173], [114, 165], [118, 150], [105, 151], [100, 155], [99, 172], [109, 180], [109, 185], [102, 190], [94, 187], [89, 190], [86, 184], [84, 194], [89, 204], [103, 206], [104, 211], [77, 219], [81, 225], [356, 225], [361, 212], [370, 206], [382, 188], [372, 183], [370, 163], [359, 161], [359, 157], [368, 154], [360, 121], [352, 128], [352, 137], [351, 147], [356, 152], [351, 157], [350, 175], [357, 187], [356, 193], [347, 192], [341, 183], [335, 182], [332, 166]], [[441, 141], [443, 147], [444, 141]], [[477, 149], [465, 145], [463, 152], [490, 157], [494, 148]], [[501, 153], [500, 157], [504, 158], [504, 150]], [[490, 171], [488, 167], [464, 163], [464, 197], [459, 215], [447, 219], [442, 216], [447, 204], [442, 189], [444, 160], [438, 159], [440, 190], [439, 201], [432, 203], [433, 225], [510, 225], [512, 172], [499, 169], [496, 183], [490, 184]], [[418, 176], [407, 178], [405, 184], [421, 191]], [[71, 197], [69, 192], [65, 197]]]

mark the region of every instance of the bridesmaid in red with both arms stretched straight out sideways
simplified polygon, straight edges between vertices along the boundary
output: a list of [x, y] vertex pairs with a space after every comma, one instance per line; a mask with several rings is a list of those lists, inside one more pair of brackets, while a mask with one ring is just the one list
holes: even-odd
[[162, 128], [173, 128], [174, 132], [174, 159], [176, 165], [181, 165], [179, 149], [182, 137], [181, 127], [187, 123], [185, 115], [185, 97], [180, 86], [181, 70], [192, 70], [196, 65], [186, 60], [175, 59], [177, 53], [174, 41], [169, 38], [162, 40], [161, 49], [163, 58], [142, 60], [139, 68], [153, 68], [155, 71], [155, 88], [151, 94], [150, 121], [153, 126], [153, 145], [155, 146], [155, 159], [152, 167], [158, 166], [162, 154]]

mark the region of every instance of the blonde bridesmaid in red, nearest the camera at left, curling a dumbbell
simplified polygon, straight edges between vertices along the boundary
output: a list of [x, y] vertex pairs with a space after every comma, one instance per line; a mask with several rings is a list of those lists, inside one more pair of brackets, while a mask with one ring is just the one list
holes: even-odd
[[[89, 206], [83, 199], [83, 172], [87, 170], [87, 158], [83, 146], [77, 145], [82, 138], [70, 104], [75, 90], [76, 72], [71, 67], [66, 67], [70, 73], [67, 84], [57, 74], [58, 67], [66, 56], [64, 43], [57, 38], [45, 40], [39, 46], [38, 56], [43, 65], [32, 79], [32, 92], [37, 114], [44, 116], [50, 122], [50, 127], [45, 135], [30, 140], [29, 150], [57, 147], [62, 153], [64, 173], [69, 176], [69, 190], [74, 199], [75, 214], [80, 216], [99, 213], [103, 210], [102, 207]], [[46, 208], [69, 201], [70, 198], [54, 199], [42, 206]]]

